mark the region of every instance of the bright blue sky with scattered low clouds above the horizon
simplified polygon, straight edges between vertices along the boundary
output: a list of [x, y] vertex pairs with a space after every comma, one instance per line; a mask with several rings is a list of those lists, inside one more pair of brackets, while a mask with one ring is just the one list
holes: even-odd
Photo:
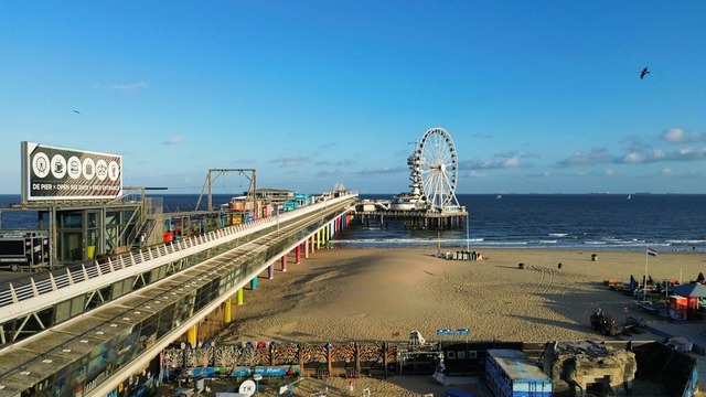
[[21, 141], [168, 193], [398, 193], [434, 127], [457, 193], [706, 193], [705, 37], [700, 0], [3, 1], [0, 193]]

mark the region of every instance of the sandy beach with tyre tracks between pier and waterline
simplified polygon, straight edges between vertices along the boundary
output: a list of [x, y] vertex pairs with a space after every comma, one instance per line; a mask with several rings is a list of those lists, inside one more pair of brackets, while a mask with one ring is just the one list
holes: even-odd
[[[628, 283], [630, 275], [642, 277], [645, 265], [655, 281], [688, 282], [706, 270], [706, 255], [697, 251], [646, 257], [645, 251], [483, 249], [486, 259], [479, 261], [446, 260], [436, 254], [435, 248], [321, 249], [301, 264], [292, 256], [288, 271], [277, 264], [274, 280], [264, 272], [257, 290], [246, 289], [227, 340], [402, 342], [413, 330], [438, 340], [438, 329], [460, 328], [470, 329], [472, 341], [601, 340], [588, 323], [598, 308], [619, 322], [625, 307], [630, 314], [644, 316], [632, 312], [631, 297], [609, 290], [603, 280]], [[349, 395], [345, 382], [311, 379], [302, 382], [300, 390], [309, 384], [307, 393], [331, 387], [329, 396]], [[362, 387], [371, 387], [374, 396], [443, 391], [426, 377], [355, 382], [355, 395]]]

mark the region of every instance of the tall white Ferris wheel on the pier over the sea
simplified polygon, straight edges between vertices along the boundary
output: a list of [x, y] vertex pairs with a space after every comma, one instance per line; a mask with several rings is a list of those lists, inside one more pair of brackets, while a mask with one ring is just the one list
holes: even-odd
[[456, 198], [459, 160], [449, 132], [443, 128], [428, 130], [409, 160], [413, 189], [424, 194], [430, 210], [443, 212], [450, 205], [459, 205]]

